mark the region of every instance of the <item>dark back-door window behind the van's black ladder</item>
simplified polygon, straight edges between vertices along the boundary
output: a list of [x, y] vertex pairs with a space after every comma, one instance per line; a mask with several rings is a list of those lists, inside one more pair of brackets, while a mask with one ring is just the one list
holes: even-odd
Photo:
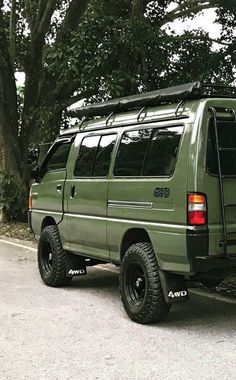
[[[236, 176], [236, 123], [218, 123], [218, 139], [223, 175]], [[213, 122], [210, 124], [207, 142], [206, 168], [211, 174], [218, 174], [216, 138]]]

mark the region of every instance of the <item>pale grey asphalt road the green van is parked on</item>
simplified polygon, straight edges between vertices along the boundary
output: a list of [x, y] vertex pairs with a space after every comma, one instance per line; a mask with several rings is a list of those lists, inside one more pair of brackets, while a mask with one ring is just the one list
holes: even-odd
[[0, 380], [236, 379], [236, 304], [193, 295], [143, 326], [123, 310], [116, 269], [49, 288], [35, 258], [0, 241]]

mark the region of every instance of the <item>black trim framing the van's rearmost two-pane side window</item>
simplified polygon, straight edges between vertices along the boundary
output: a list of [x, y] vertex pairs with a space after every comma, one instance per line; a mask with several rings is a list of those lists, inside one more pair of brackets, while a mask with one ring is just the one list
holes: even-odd
[[[135, 125], [136, 126], [136, 125]], [[146, 126], [146, 124], [145, 124]], [[138, 126], [137, 126], [138, 127]], [[150, 146], [150, 142], [151, 142], [151, 139], [152, 139], [152, 136], [153, 136], [153, 133], [154, 133], [154, 130], [156, 129], [162, 129], [162, 128], [174, 128], [174, 127], [182, 127], [183, 128], [183, 132], [181, 134], [181, 137], [180, 137], [180, 141], [179, 141], [179, 145], [178, 145], [178, 151], [176, 153], [176, 162], [178, 161], [178, 156], [179, 156], [179, 148], [182, 144], [182, 139], [183, 139], [183, 136], [184, 136], [184, 129], [185, 129], [185, 124], [184, 123], [177, 123], [177, 124], [171, 124], [171, 125], [158, 125], [158, 126], [153, 126], [151, 127], [150, 125], [147, 125], [147, 128], [135, 128], [135, 129], [126, 129], [124, 130], [122, 133], [121, 133], [121, 136], [119, 137], [119, 141], [118, 141], [118, 148], [116, 150], [116, 154], [115, 154], [115, 158], [114, 158], [114, 165], [113, 165], [113, 168], [112, 168], [112, 179], [155, 179], [155, 178], [165, 178], [165, 179], [170, 179], [174, 176], [175, 174], [175, 170], [173, 171], [173, 173], [171, 173], [170, 175], [165, 175], [165, 176], [115, 176], [114, 175], [114, 169], [115, 169], [115, 164], [116, 164], [116, 157], [117, 157], [117, 154], [118, 154], [118, 151], [119, 151], [119, 147], [120, 147], [120, 143], [122, 141], [122, 137], [123, 135], [126, 133], [126, 132], [134, 132], [134, 131], [140, 131], [141, 129], [152, 129], [152, 133], [151, 133], [151, 136], [149, 138], [149, 142], [147, 144], [147, 147], [146, 147], [146, 151], [145, 151], [145, 155], [144, 155], [144, 160], [143, 160], [143, 164], [142, 164], [142, 170], [141, 170], [141, 173], [143, 172], [143, 169], [144, 169], [144, 164], [145, 164], [145, 160], [146, 160], [146, 156], [147, 156], [147, 153], [149, 151], [149, 146]]]

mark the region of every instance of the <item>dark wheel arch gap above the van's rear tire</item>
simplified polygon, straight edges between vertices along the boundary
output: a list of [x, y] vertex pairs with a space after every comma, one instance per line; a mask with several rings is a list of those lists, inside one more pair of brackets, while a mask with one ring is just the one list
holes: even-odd
[[122, 238], [120, 245], [120, 260], [122, 261], [127, 249], [135, 243], [151, 243], [150, 236], [144, 228], [130, 228]]

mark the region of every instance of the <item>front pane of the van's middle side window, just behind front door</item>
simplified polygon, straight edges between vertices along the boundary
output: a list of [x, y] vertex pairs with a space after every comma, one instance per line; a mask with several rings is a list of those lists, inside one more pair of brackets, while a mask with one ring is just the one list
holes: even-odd
[[76, 177], [92, 176], [94, 158], [99, 140], [100, 136], [89, 136], [83, 139], [75, 163], [74, 175]]

